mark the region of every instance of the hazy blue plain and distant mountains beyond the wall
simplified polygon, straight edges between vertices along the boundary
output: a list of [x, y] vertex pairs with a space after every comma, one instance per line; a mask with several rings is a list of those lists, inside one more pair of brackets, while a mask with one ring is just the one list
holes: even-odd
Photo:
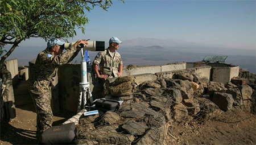
[[[255, 49], [231, 49], [177, 39], [135, 38], [122, 41], [123, 43], [118, 52], [121, 53], [124, 65], [162, 65], [174, 62], [196, 62], [203, 60], [207, 55], [225, 55], [228, 56], [226, 63], [240, 65], [241, 68], [248, 69], [252, 73], [256, 72]], [[42, 46], [18, 47], [7, 60], [16, 58], [18, 59], [18, 65], [28, 65], [28, 61], [35, 59], [43, 49], [45, 47]], [[94, 59], [97, 53], [89, 51], [91, 60]], [[80, 63], [80, 54], [72, 62], [75, 61]]]

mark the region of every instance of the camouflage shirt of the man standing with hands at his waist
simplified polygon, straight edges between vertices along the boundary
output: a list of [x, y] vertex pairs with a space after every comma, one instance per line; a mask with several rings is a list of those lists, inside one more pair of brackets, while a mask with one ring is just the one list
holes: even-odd
[[101, 73], [118, 77], [119, 65], [123, 64], [123, 61], [117, 51], [111, 53], [109, 49], [105, 49], [105, 51], [98, 52], [93, 64], [99, 65]]

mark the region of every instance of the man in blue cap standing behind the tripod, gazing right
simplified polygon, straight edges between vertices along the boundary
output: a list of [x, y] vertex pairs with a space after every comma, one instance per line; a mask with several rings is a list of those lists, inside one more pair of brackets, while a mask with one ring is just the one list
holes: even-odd
[[[110, 38], [108, 49], [99, 52], [93, 60], [93, 71], [96, 74], [96, 77], [100, 79], [103, 90], [106, 90], [105, 80], [107, 78], [122, 76], [123, 61], [121, 55], [116, 51], [121, 43], [122, 42], [116, 37]], [[102, 97], [105, 95], [106, 92], [103, 92]]]

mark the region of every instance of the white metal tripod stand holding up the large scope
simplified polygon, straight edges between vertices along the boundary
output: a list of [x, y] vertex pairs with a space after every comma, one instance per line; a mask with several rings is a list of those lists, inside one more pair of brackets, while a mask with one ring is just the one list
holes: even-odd
[[84, 110], [86, 105], [86, 100], [89, 99], [89, 103], [93, 102], [92, 93], [90, 92], [90, 83], [87, 81], [87, 65], [84, 57], [84, 49], [81, 49], [81, 78], [82, 82], [79, 84], [79, 104], [77, 107], [77, 112]]

